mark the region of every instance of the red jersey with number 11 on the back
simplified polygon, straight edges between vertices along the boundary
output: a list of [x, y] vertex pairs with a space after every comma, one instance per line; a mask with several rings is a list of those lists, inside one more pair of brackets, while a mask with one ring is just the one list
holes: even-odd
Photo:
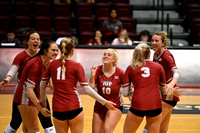
[[66, 72], [62, 71], [62, 61], [60, 59], [49, 63], [43, 81], [52, 77], [54, 91], [52, 107], [53, 111], [65, 112], [82, 107], [78, 89], [79, 81], [81, 86], [89, 86], [85, 78], [83, 66], [73, 60], [66, 60]]

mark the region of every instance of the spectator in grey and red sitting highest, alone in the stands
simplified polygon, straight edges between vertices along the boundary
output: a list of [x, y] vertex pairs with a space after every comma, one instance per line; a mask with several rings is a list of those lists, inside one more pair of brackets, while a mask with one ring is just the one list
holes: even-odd
[[110, 17], [104, 20], [102, 29], [108, 42], [118, 37], [120, 31], [123, 29], [123, 24], [117, 18], [117, 11], [115, 9], [111, 9]]

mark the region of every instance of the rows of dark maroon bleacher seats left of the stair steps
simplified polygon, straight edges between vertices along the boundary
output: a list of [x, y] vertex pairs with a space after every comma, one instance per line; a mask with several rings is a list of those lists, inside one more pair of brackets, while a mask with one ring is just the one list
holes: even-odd
[[[54, 3], [53, 0], [3, 0], [0, 2], [0, 34], [5, 34], [10, 28], [20, 31], [29, 27], [37, 30], [41, 39], [48, 37], [56, 40], [60, 36], [75, 35], [83, 44], [94, 35], [95, 29], [101, 27], [102, 22], [109, 17], [110, 9], [115, 7], [131, 38], [135, 38], [135, 22], [128, 2], [96, 0], [95, 4], [76, 2], [74, 5]], [[17, 34], [16, 37], [23, 41], [25, 35]]]

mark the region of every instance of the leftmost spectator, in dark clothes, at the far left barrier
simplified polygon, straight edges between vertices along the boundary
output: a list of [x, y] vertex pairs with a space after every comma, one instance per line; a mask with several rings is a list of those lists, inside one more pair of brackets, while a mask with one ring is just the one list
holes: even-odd
[[21, 45], [21, 41], [15, 38], [15, 32], [13, 30], [8, 30], [7, 38], [3, 40], [1, 43], [15, 43], [15, 46]]

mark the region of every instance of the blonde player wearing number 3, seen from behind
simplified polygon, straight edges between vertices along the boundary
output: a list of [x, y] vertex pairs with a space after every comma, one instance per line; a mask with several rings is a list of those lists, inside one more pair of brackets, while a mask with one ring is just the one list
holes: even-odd
[[123, 95], [130, 95], [131, 83], [134, 91], [124, 123], [124, 133], [135, 133], [144, 116], [149, 132], [159, 133], [158, 125], [162, 119], [159, 85], [165, 85], [165, 72], [161, 65], [149, 58], [150, 46], [139, 44], [134, 49], [131, 65], [126, 69]]

